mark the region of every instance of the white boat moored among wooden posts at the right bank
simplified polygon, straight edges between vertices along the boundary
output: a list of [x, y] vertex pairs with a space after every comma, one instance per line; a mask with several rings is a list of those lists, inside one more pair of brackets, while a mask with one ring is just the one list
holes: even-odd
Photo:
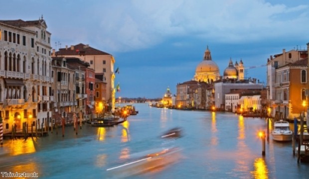
[[275, 141], [292, 141], [293, 132], [290, 130], [288, 121], [279, 120], [274, 123], [272, 131], [273, 140]]

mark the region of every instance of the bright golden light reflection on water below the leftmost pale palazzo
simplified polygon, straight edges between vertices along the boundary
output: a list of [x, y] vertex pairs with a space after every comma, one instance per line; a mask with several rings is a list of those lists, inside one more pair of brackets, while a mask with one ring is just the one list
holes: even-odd
[[31, 138], [28, 138], [27, 140], [7, 140], [7, 142], [5, 141], [5, 143], [5, 147], [8, 148], [8, 151], [12, 156], [30, 154], [35, 152], [35, 141]]

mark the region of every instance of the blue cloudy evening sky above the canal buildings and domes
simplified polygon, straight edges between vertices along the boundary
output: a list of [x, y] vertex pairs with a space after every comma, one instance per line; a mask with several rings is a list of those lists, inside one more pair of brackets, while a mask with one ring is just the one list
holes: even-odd
[[116, 97], [156, 98], [193, 79], [207, 46], [220, 75], [242, 59], [245, 78], [266, 85], [271, 55], [307, 49], [308, 9], [308, 0], [3, 0], [0, 20], [43, 15], [53, 49], [83, 43], [114, 56]]

